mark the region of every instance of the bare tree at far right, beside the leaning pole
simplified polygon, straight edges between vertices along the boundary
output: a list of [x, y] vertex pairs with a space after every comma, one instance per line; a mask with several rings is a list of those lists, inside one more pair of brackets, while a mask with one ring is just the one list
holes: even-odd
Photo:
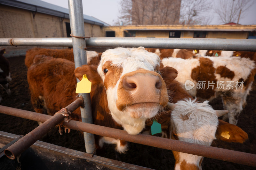
[[239, 22], [247, 10], [251, 7], [253, 0], [218, 0], [214, 11], [223, 23]]

